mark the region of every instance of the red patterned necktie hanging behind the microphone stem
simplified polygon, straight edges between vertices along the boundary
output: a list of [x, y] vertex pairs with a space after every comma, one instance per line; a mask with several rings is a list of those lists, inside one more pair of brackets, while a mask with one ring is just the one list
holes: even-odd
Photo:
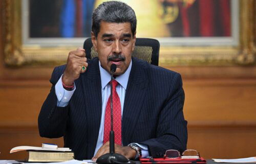
[[[119, 96], [116, 92], [116, 86], [118, 82], [116, 80], [112, 81], [112, 91], [113, 91], [113, 130], [115, 132], [115, 143], [122, 145], [122, 116], [121, 116], [121, 103]], [[105, 118], [104, 118], [104, 137], [103, 144], [110, 140], [110, 131], [111, 131], [111, 109], [110, 109], [110, 97], [108, 103], [106, 103]]]

